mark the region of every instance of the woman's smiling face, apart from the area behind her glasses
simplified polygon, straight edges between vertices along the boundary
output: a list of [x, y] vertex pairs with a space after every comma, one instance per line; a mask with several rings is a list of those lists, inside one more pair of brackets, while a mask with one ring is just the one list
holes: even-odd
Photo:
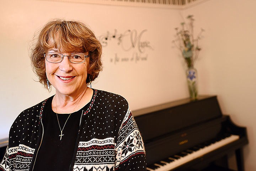
[[[59, 50], [52, 48], [48, 52], [59, 52]], [[59, 53], [69, 55], [65, 52]], [[87, 55], [88, 52], [84, 54]], [[56, 94], [76, 96], [86, 90], [89, 58], [86, 58], [84, 63], [74, 64], [65, 56], [60, 63], [50, 63], [45, 60], [45, 64], [47, 79], [56, 89]]]

